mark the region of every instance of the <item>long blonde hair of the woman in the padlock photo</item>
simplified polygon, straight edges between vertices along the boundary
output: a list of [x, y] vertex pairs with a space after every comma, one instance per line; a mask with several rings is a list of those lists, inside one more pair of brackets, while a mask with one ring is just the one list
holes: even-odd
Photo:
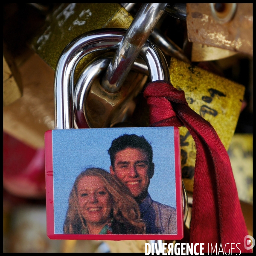
[[88, 233], [86, 221], [81, 215], [78, 204], [77, 185], [84, 176], [101, 178], [113, 201], [112, 230], [113, 234], [145, 234], [145, 223], [140, 218], [140, 209], [132, 198], [130, 191], [113, 175], [104, 169], [88, 168], [81, 172], [75, 180], [70, 192], [69, 206], [64, 222], [64, 234]]

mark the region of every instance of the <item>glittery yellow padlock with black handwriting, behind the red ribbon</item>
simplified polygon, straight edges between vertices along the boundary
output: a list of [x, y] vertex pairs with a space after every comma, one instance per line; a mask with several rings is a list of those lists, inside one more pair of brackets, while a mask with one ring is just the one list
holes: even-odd
[[[171, 59], [169, 71], [173, 86], [184, 90], [189, 107], [212, 124], [228, 149], [239, 118], [244, 86], [175, 58]], [[196, 149], [185, 127], [180, 127], [180, 145], [183, 181], [192, 192]]]

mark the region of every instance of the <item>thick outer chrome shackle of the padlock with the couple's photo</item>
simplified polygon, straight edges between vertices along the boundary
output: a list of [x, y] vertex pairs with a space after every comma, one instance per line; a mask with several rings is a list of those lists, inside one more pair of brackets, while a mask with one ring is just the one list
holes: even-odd
[[[55, 69], [55, 129], [74, 128], [74, 72], [87, 54], [102, 49], [116, 49], [126, 29], [97, 29], [84, 33], [68, 44], [61, 53]], [[141, 52], [148, 66], [150, 81], [169, 81], [169, 70], [160, 49], [148, 40]]]

